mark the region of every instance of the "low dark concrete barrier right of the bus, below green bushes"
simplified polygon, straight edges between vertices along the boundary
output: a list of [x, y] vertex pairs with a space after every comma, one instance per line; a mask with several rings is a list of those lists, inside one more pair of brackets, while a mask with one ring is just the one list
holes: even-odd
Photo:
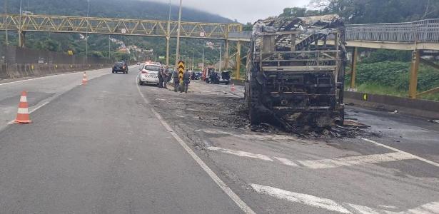
[[399, 111], [423, 118], [439, 118], [439, 102], [345, 91], [345, 103], [382, 111]]

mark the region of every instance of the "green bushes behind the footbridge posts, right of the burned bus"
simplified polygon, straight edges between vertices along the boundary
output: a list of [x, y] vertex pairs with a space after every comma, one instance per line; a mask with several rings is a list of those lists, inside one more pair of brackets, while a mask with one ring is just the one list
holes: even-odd
[[[355, 85], [357, 91], [390, 96], [408, 96], [410, 77], [410, 51], [373, 51], [361, 58], [357, 65]], [[350, 67], [346, 69], [349, 73]], [[350, 85], [350, 75], [346, 76], [345, 88]], [[418, 91], [426, 91], [439, 86], [439, 70], [420, 65]], [[439, 94], [421, 98], [439, 101]]]

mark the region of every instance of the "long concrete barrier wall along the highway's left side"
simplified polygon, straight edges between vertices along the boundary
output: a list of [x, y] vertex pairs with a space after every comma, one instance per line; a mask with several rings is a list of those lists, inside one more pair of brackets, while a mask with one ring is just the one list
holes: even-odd
[[109, 67], [104, 64], [42, 64], [42, 63], [12, 63], [6, 66], [0, 64], [0, 80], [11, 78], [26, 78], [34, 76], [49, 76], [56, 73], [94, 70]]

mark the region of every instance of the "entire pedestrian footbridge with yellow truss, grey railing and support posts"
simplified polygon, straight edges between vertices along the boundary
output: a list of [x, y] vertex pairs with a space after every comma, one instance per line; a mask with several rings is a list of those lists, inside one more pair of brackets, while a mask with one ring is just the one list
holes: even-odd
[[[109, 34], [126, 36], [158, 36], [166, 38], [167, 47], [171, 37], [178, 32], [177, 21], [112, 19], [82, 16], [46, 16], [46, 15], [11, 15], [0, 14], [0, 31], [17, 31], [19, 46], [24, 46], [28, 31]], [[226, 42], [224, 54], [226, 64], [236, 58], [236, 78], [239, 78], [241, 67], [241, 43], [250, 41], [251, 31], [242, 31], [237, 23], [218, 24], [200, 22], [181, 22], [181, 37], [191, 39], [216, 39]], [[438, 88], [417, 92], [419, 64], [426, 63], [439, 69], [439, 65], [427, 61], [421, 56], [438, 56], [439, 51], [439, 19], [385, 24], [353, 24], [347, 25], [345, 31], [346, 46], [353, 48], [352, 76], [350, 88], [355, 88], [356, 63], [358, 48], [392, 49], [413, 51], [410, 69], [410, 98], [439, 91]], [[231, 47], [230, 44], [236, 44]], [[231, 53], [231, 49], [233, 53]], [[168, 63], [169, 49], [166, 50]]]

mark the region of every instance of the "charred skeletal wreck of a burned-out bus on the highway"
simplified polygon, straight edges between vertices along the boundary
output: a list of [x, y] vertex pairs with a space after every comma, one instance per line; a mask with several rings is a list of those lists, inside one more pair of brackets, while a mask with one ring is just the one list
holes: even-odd
[[246, 73], [251, 123], [276, 119], [291, 129], [342, 124], [344, 44], [336, 15], [256, 22]]

